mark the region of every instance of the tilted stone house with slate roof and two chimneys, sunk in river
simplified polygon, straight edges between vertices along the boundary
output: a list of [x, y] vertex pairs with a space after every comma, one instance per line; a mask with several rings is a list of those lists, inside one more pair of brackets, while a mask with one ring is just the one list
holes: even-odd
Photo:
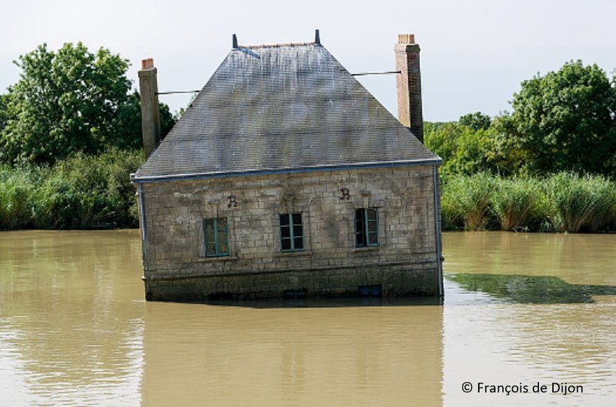
[[[148, 300], [442, 296], [438, 156], [419, 45], [394, 46], [398, 119], [321, 44], [241, 46], [160, 141], [139, 71]], [[151, 152], [151, 154], [150, 154]]]

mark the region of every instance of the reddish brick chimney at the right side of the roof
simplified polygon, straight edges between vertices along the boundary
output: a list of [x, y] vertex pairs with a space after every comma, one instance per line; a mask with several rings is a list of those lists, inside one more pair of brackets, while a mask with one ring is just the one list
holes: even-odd
[[413, 34], [398, 35], [394, 46], [396, 55], [396, 90], [398, 92], [398, 120], [423, 143], [423, 113], [421, 109], [421, 73], [419, 45]]

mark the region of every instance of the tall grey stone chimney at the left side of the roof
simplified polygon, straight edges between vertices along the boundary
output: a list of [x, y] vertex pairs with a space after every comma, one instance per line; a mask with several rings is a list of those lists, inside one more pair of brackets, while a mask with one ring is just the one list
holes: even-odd
[[158, 84], [154, 60], [141, 61], [139, 93], [141, 93], [141, 132], [146, 159], [161, 142], [161, 121], [158, 107]]

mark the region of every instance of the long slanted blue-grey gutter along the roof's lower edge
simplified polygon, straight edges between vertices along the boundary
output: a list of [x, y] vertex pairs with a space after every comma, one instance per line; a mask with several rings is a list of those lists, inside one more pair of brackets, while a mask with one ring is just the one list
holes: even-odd
[[210, 179], [210, 178], [230, 178], [230, 177], [249, 177], [254, 175], [272, 175], [272, 174], [300, 174], [304, 172], [322, 172], [336, 170], [356, 170], [360, 168], [392, 168], [392, 167], [410, 167], [414, 165], [441, 165], [443, 161], [436, 157], [427, 160], [413, 161], [388, 161], [376, 163], [356, 163], [345, 165], [321, 165], [317, 167], [299, 167], [299, 168], [280, 168], [275, 170], [245, 170], [245, 171], [227, 171], [227, 172], [202, 172], [194, 174], [175, 174], [175, 175], [159, 175], [150, 177], [137, 177], [136, 174], [130, 174], [130, 180], [133, 183], [155, 183], [166, 181], [187, 181], [193, 179]]

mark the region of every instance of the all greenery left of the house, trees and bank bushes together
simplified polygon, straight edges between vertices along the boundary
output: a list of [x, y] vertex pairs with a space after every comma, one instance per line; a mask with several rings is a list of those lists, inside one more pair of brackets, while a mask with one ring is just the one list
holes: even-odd
[[[0, 94], [0, 229], [139, 226], [141, 107], [127, 60], [69, 43], [15, 64], [19, 81]], [[160, 113], [166, 134], [177, 118]]]

